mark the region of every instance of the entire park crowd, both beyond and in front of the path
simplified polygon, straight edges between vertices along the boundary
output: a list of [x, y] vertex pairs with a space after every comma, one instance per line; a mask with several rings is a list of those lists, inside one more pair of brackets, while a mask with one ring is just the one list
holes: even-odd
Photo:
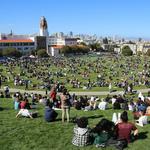
[[[44, 107], [46, 122], [56, 121], [59, 116], [57, 111], [61, 111], [63, 123], [71, 122], [71, 107], [80, 111], [105, 111], [111, 108], [114, 110], [112, 120], [104, 117], [93, 128], [88, 126], [88, 118], [75, 118], [72, 144], [76, 146], [95, 144], [96, 147], [114, 145], [121, 149], [138, 138], [136, 125], [143, 127], [148, 124], [150, 95], [144, 97], [140, 93], [136, 100], [126, 96], [127, 93], [134, 94], [135, 86], [150, 86], [148, 62], [138, 57], [127, 59], [109, 57], [107, 61], [100, 57], [92, 61], [81, 58], [52, 58], [3, 62], [2, 66], [6, 70], [2, 69], [0, 73], [0, 88], [4, 86], [0, 98], [11, 97], [8, 85], [12, 82], [14, 87], [24, 86], [25, 90], [31, 87], [45, 89], [45, 96], [26, 92], [15, 93], [13, 106], [17, 110], [17, 118], [23, 116], [33, 119], [39, 117], [38, 106], [41, 105]], [[16, 68], [19, 71], [16, 71]], [[108, 87], [109, 92], [112, 92], [113, 87], [118, 87], [123, 88], [124, 94], [107, 95], [105, 98], [77, 96], [70, 95], [66, 87], [84, 90]], [[117, 114], [115, 110], [122, 113]], [[134, 123], [128, 121], [127, 111], [133, 115]]]

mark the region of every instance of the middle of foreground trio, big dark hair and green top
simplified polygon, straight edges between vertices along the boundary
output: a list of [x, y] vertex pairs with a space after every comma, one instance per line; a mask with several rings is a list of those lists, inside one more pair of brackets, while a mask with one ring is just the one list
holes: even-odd
[[113, 136], [114, 127], [115, 125], [112, 121], [104, 118], [92, 129], [96, 147], [105, 147], [107, 145], [107, 141]]

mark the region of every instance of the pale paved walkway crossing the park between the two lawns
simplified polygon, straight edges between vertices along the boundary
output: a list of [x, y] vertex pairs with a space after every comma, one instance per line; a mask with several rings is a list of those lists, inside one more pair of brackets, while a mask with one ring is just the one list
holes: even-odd
[[[0, 89], [0, 91], [3, 91], [3, 89]], [[148, 91], [150, 91], [149, 89], [140, 89], [137, 90], [137, 93], [142, 92], [142, 93], [147, 93]], [[10, 92], [14, 93], [14, 92], [20, 92], [20, 93], [37, 93], [37, 94], [41, 94], [41, 95], [45, 95], [45, 91], [38, 91], [38, 90], [23, 90], [23, 89], [10, 89]], [[90, 92], [90, 91], [82, 91], [82, 92], [69, 92], [70, 94], [75, 93], [76, 95], [118, 95], [118, 94], [123, 94], [123, 91], [116, 91], [116, 92], [111, 92], [109, 93], [108, 91], [99, 91], [99, 92]]]

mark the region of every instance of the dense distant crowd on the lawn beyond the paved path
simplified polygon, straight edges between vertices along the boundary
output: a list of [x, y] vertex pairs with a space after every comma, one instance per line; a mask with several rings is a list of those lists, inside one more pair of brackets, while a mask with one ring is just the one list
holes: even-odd
[[[107, 61], [106, 61], [107, 60]], [[96, 87], [121, 88], [133, 92], [137, 86], [150, 86], [149, 59], [134, 56], [85, 58], [20, 59], [2, 62], [0, 86], [50, 90], [54, 83], [67, 88], [90, 90]]]

